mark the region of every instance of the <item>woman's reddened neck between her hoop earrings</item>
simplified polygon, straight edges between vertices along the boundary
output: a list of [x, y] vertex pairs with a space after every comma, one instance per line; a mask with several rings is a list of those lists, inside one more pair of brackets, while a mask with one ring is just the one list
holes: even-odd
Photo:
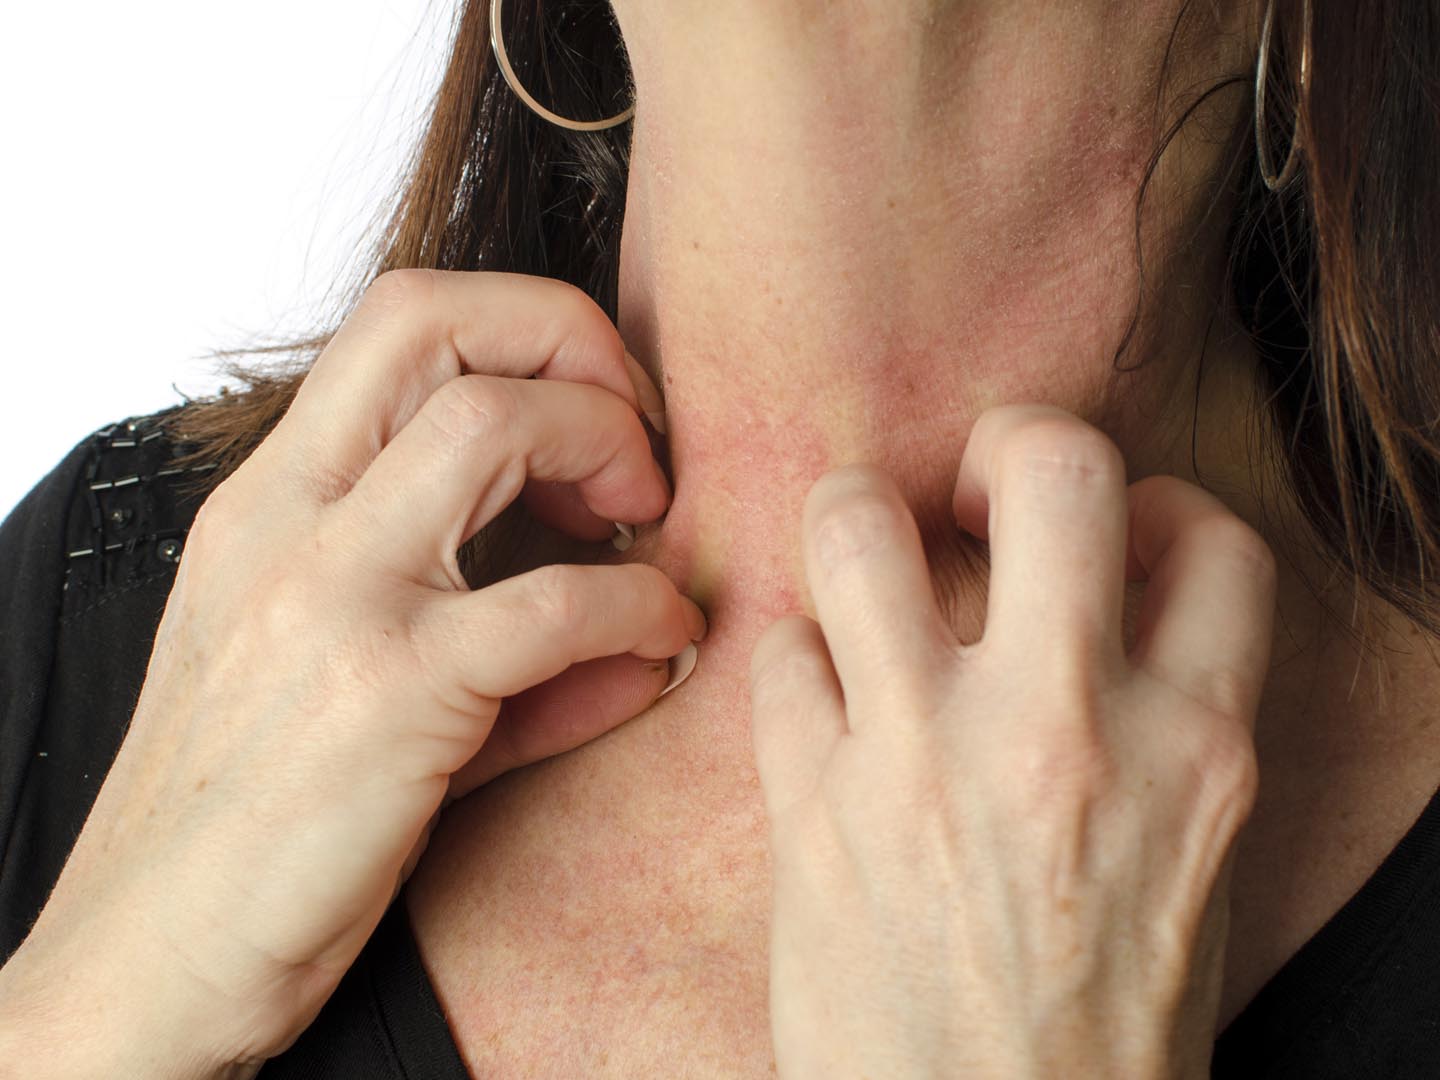
[[[1113, 370], [1179, 6], [615, 0], [638, 88], [619, 328], [660, 376], [675, 481], [629, 557], [672, 573], [711, 625], [809, 611], [805, 492], [871, 461], [953, 577], [960, 451], [1001, 402], [1086, 418], [1132, 477], [1189, 475], [1224, 242], [1224, 213], [1201, 219], [1243, 92], [1217, 94], [1153, 177], [1146, 304], [1164, 318], [1126, 356], [1140, 369]], [[1178, 49], [1172, 84], [1194, 95], [1243, 71], [1244, 35], [1223, 29], [1195, 27], [1204, 48]], [[1238, 338], [1211, 341], [1217, 363], [1246, 364]], [[1200, 415], [1224, 445], [1233, 416], [1211, 400], [1236, 395]]]

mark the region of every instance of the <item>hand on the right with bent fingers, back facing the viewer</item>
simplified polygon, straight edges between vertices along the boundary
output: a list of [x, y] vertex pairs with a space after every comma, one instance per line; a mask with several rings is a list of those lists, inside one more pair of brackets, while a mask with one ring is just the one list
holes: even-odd
[[851, 465], [805, 500], [819, 622], [755, 647], [779, 1073], [1208, 1077], [1274, 557], [1043, 405], [976, 420], [955, 516], [991, 546], [981, 641]]

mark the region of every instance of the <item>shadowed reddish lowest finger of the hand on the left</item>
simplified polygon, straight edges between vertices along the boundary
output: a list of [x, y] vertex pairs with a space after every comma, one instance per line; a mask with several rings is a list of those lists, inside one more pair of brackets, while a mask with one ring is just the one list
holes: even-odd
[[572, 664], [554, 678], [507, 697], [495, 726], [449, 783], [459, 799], [510, 769], [598, 739], [649, 708], [670, 677], [664, 660], [628, 652]]

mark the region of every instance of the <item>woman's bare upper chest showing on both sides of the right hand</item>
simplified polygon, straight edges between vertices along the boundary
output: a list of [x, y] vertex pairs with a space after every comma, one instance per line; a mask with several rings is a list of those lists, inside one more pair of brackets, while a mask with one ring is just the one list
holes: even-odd
[[[739, 704], [664, 704], [455, 804], [420, 861], [410, 922], [474, 1076], [775, 1074], [747, 724]], [[1434, 757], [1263, 762], [1221, 1028], [1398, 842], [1434, 792]]]

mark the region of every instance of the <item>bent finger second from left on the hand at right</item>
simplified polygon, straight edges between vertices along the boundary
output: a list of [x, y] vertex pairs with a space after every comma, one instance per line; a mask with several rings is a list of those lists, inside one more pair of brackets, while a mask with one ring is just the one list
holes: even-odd
[[815, 481], [802, 536], [811, 596], [860, 730], [897, 694], [909, 697], [956, 642], [914, 516], [884, 469], [845, 465]]

